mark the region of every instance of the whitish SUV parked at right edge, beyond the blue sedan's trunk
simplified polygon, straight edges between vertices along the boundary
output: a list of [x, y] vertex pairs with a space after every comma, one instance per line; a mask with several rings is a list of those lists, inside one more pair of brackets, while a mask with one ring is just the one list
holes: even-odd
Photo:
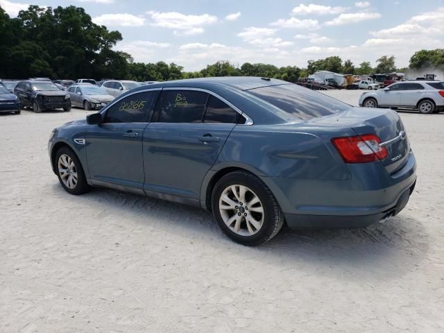
[[364, 92], [359, 106], [366, 108], [409, 108], [420, 113], [444, 110], [444, 82], [404, 81], [375, 92]]

